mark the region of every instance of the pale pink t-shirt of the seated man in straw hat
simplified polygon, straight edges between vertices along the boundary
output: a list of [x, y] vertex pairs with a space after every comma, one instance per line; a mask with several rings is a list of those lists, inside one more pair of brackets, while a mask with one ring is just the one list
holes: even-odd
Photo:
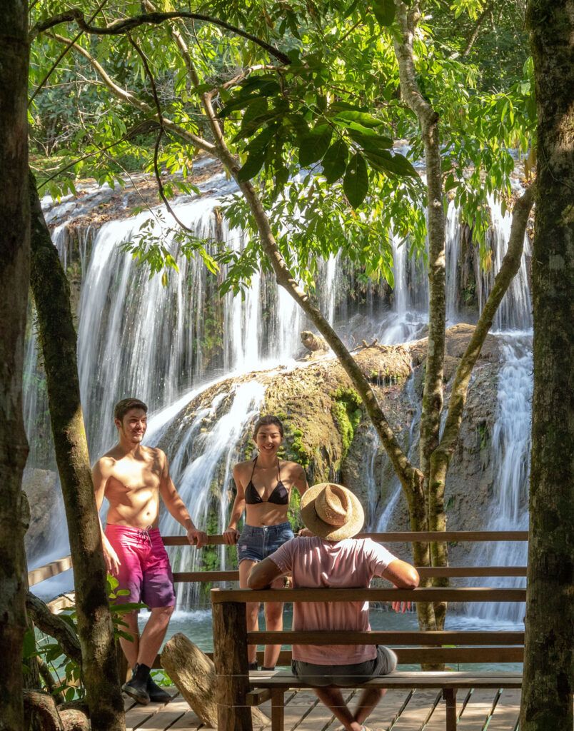
[[[367, 588], [396, 557], [370, 538], [324, 541], [294, 538], [272, 553], [271, 561], [293, 578], [293, 588]], [[366, 632], [369, 602], [295, 602], [293, 629], [350, 629]], [[347, 665], [374, 659], [374, 645], [293, 645], [294, 660]]]

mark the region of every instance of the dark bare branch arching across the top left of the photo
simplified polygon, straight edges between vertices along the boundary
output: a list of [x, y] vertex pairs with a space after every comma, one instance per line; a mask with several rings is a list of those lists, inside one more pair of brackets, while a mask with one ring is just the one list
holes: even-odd
[[36, 25], [30, 31], [29, 39], [30, 41], [32, 41], [35, 37], [37, 37], [39, 33], [47, 31], [48, 29], [53, 28], [54, 26], [58, 26], [61, 23], [70, 23], [74, 21], [78, 23], [78, 26], [80, 26], [80, 29], [82, 29], [84, 33], [88, 33], [91, 35], [115, 36], [126, 34], [139, 26], [157, 26], [160, 23], [163, 23], [165, 20], [175, 20], [176, 18], [203, 20], [205, 21], [205, 23], [211, 23], [214, 26], [219, 26], [220, 28], [224, 28], [228, 31], [231, 31], [232, 33], [235, 33], [235, 35], [241, 36], [241, 38], [245, 38], [249, 41], [256, 43], [258, 46], [260, 46], [260, 48], [263, 48], [263, 50], [267, 51], [267, 53], [269, 53], [271, 56], [279, 58], [279, 61], [281, 61], [282, 64], [291, 63], [291, 59], [289, 58], [289, 56], [286, 56], [280, 50], [277, 50], [270, 43], [262, 41], [260, 38], [257, 38], [257, 36], [254, 36], [251, 33], [247, 33], [246, 31], [242, 31], [240, 28], [232, 26], [230, 23], [226, 23], [224, 20], [219, 20], [219, 18], [212, 18], [210, 15], [202, 15], [199, 12], [146, 12], [142, 13], [141, 15], [135, 15], [134, 18], [126, 18], [126, 20], [116, 20], [116, 22], [110, 23], [109, 26], [105, 26], [102, 28], [101, 26], [91, 26], [89, 22], [86, 23], [83, 12], [79, 8], [72, 8], [72, 10], [68, 10], [67, 12], [61, 12], [59, 13], [59, 15], [53, 15], [52, 18], [42, 20], [41, 23], [36, 23]]

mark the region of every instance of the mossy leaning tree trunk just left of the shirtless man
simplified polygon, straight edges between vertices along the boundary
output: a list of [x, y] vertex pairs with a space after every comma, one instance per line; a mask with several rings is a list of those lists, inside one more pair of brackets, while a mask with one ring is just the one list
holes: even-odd
[[31, 288], [74, 567], [82, 672], [94, 731], [124, 730], [102, 539], [80, 404], [69, 284], [30, 175]]

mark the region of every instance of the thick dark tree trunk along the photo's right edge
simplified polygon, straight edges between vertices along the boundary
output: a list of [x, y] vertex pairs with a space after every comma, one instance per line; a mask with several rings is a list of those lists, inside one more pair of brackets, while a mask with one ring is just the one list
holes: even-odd
[[537, 101], [534, 393], [521, 731], [571, 731], [574, 1], [530, 0]]

